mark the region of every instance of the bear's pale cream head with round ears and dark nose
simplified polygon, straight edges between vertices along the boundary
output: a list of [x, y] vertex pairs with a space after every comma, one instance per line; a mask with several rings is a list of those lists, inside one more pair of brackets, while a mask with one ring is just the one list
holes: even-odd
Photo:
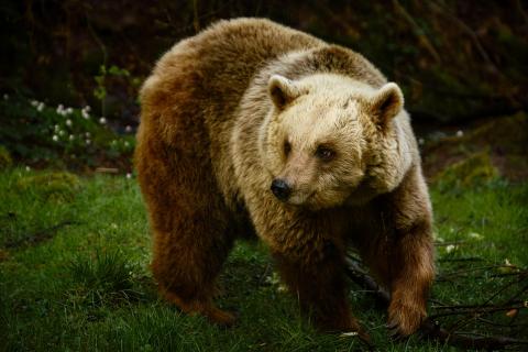
[[411, 163], [394, 82], [375, 89], [333, 74], [268, 80], [260, 151], [279, 200], [310, 209], [362, 205], [391, 191]]

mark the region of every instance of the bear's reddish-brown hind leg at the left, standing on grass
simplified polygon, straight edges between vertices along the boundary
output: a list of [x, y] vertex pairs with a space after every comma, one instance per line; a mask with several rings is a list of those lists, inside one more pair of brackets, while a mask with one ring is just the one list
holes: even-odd
[[[180, 139], [182, 140], [182, 139]], [[216, 279], [234, 241], [232, 216], [205, 155], [140, 139], [136, 167], [153, 231], [152, 272], [164, 298], [188, 314], [231, 324]]]

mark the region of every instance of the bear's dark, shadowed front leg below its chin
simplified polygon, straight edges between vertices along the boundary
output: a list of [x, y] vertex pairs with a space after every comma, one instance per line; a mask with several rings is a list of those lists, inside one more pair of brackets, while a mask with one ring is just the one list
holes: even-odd
[[304, 314], [322, 331], [356, 331], [367, 339], [346, 302], [343, 254], [327, 240], [322, 253], [292, 255], [275, 252], [280, 276], [299, 299]]

